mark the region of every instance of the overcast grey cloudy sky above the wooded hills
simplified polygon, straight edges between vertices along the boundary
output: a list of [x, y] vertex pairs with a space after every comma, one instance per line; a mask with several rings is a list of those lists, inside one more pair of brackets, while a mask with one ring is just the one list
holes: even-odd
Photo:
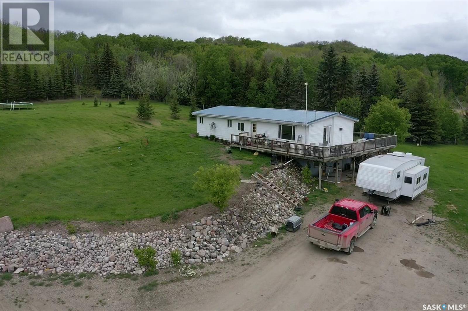
[[468, 60], [468, 0], [56, 0], [55, 28], [188, 41], [235, 35], [285, 45], [345, 39], [385, 53]]

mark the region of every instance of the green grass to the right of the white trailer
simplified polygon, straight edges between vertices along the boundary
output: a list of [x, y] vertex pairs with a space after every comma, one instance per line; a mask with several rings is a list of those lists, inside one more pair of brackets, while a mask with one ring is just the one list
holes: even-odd
[[412, 152], [431, 166], [428, 187], [437, 202], [434, 211], [449, 219], [458, 233], [468, 233], [468, 146], [402, 144], [395, 151]]

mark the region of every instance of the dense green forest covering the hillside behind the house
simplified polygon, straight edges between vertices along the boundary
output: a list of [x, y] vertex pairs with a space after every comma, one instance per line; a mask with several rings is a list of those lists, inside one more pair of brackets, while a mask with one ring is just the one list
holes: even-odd
[[72, 31], [56, 32], [55, 55], [53, 65], [2, 65], [0, 101], [149, 96], [192, 109], [305, 109], [307, 82], [308, 109], [364, 120], [384, 96], [409, 110], [414, 137], [448, 142], [464, 133], [456, 112], [468, 102], [468, 62], [447, 55], [397, 56], [348, 41], [283, 46], [234, 36], [187, 42]]

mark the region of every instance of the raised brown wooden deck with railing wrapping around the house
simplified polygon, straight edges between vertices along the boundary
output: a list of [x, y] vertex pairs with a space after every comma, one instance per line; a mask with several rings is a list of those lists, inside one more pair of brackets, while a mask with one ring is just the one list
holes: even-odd
[[[364, 135], [365, 133], [355, 132], [354, 140], [364, 138]], [[242, 135], [231, 135], [231, 145], [237, 145], [241, 148], [260, 152], [286, 155], [323, 163], [396, 147], [396, 135], [371, 135], [374, 138], [367, 139], [366, 141], [355, 141], [350, 144], [322, 147], [250, 137], [242, 133]]]

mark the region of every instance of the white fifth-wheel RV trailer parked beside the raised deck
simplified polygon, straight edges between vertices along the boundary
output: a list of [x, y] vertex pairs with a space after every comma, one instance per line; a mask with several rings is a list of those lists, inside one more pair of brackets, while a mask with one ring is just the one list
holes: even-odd
[[409, 152], [374, 156], [359, 164], [356, 186], [390, 200], [400, 196], [414, 199], [427, 189], [429, 166], [424, 161]]

